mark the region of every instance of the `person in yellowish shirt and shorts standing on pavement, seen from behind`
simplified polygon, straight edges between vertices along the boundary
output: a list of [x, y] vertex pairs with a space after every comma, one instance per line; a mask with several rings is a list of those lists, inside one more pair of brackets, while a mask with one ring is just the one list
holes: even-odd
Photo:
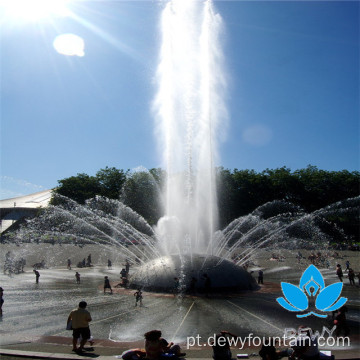
[[[86, 310], [87, 302], [80, 301], [79, 307], [70, 312], [67, 323], [72, 322], [73, 348], [72, 351], [83, 351], [84, 345], [90, 339], [89, 322], [92, 321], [90, 312]], [[81, 337], [80, 346], [77, 348], [77, 341]]]

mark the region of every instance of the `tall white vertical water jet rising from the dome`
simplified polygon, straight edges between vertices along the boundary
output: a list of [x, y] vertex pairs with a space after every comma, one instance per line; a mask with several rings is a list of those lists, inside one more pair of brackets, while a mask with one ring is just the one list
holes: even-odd
[[156, 227], [164, 254], [213, 253], [214, 164], [227, 119], [221, 33], [211, 1], [172, 0], [162, 12], [154, 113], [167, 172]]

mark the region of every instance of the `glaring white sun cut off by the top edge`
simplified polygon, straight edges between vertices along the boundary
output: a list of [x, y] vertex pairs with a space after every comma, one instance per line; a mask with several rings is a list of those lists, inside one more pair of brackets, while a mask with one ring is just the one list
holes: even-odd
[[7, 19], [37, 21], [50, 16], [69, 16], [69, 0], [0, 0]]

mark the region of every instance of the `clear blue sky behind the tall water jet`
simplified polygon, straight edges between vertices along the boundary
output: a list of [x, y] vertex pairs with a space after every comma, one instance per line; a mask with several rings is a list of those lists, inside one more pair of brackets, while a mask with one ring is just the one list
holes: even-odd
[[[163, 6], [70, 1], [73, 17], [3, 17], [2, 199], [106, 166], [161, 166], [151, 103]], [[215, 7], [229, 79], [217, 165], [359, 170], [359, 2]], [[85, 56], [55, 51], [65, 33], [84, 39]]]

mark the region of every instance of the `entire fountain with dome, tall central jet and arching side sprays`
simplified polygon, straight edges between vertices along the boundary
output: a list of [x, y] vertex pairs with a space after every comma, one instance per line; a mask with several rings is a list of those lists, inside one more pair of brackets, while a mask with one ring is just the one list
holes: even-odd
[[59, 197], [12, 241], [116, 247], [139, 265], [133, 287], [168, 291], [178, 278], [186, 290], [192, 278], [200, 283], [207, 276], [219, 291], [255, 289], [244, 267], [256, 263], [258, 248], [324, 248], [324, 215], [354, 212], [359, 199], [312, 214], [275, 201], [220, 231], [214, 165], [227, 122], [222, 19], [211, 1], [171, 0], [161, 36], [153, 112], [167, 179], [157, 225], [121, 201], [96, 197], [83, 206]]

